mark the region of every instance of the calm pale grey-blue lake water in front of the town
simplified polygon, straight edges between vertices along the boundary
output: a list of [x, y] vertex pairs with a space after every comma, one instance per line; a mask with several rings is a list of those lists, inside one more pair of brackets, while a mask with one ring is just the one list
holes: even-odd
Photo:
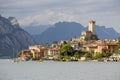
[[0, 80], [120, 80], [120, 62], [0, 60]]

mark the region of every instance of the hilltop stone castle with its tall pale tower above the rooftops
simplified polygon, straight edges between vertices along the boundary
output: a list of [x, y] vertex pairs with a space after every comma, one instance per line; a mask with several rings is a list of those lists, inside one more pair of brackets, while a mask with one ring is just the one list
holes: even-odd
[[96, 34], [95, 21], [93, 20], [89, 21], [87, 31], [83, 30], [80, 37], [72, 38], [72, 41], [77, 41], [77, 42], [83, 42], [89, 40], [98, 40]]

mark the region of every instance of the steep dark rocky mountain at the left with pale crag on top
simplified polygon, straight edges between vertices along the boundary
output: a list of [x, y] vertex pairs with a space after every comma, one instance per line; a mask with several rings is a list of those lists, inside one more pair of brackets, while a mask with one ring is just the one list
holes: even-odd
[[13, 57], [13, 53], [16, 55], [16, 52], [32, 44], [35, 44], [35, 41], [20, 28], [15, 17], [7, 19], [0, 16], [0, 58]]

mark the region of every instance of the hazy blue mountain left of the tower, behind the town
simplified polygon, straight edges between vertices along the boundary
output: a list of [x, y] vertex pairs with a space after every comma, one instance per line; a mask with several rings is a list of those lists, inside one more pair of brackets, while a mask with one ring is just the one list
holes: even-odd
[[[74, 26], [74, 27], [73, 27]], [[39, 43], [53, 42], [59, 40], [70, 39], [72, 36], [79, 36], [83, 26], [74, 22], [59, 22], [53, 27], [48, 28], [40, 35], [33, 36]], [[76, 30], [77, 29], [77, 30]]]

